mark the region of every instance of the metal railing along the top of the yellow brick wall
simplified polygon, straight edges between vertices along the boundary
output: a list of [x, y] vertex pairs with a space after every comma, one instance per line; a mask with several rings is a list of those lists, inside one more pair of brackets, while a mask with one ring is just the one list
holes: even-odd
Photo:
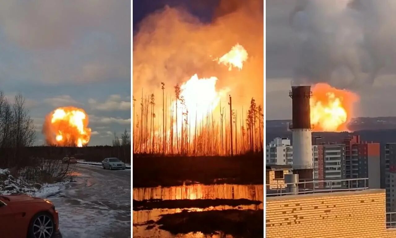
[[[368, 178], [311, 180], [298, 183], [284, 183], [277, 179], [267, 184], [267, 196], [299, 195], [308, 193], [334, 193], [368, 189]], [[395, 215], [396, 220], [396, 215]], [[396, 226], [396, 221], [394, 222]]]

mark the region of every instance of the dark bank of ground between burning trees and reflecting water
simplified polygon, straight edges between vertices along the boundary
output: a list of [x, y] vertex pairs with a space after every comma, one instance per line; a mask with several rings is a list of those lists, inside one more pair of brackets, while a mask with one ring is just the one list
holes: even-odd
[[182, 157], [133, 155], [133, 187], [188, 183], [263, 184], [264, 155]]

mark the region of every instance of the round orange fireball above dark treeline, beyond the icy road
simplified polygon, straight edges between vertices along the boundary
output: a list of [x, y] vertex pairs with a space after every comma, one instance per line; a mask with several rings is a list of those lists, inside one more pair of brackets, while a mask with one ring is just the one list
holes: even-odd
[[88, 115], [81, 108], [57, 108], [46, 116], [42, 133], [48, 145], [82, 147], [91, 136]]

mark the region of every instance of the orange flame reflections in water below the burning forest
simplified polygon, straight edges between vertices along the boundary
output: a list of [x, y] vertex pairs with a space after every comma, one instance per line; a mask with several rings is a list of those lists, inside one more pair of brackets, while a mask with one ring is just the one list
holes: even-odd
[[[264, 186], [263, 185], [234, 185], [234, 184], [219, 184], [219, 185], [183, 185], [175, 187], [151, 187], [151, 188], [134, 188], [133, 199], [163, 199], [163, 200], [179, 200], [179, 199], [241, 199], [264, 201]], [[160, 237], [160, 238], [232, 238], [231, 235], [208, 235], [202, 232], [177, 234], [172, 235], [166, 230], [155, 227], [151, 230], [146, 230], [145, 225], [138, 225], [150, 220], [157, 221], [160, 215], [179, 213], [183, 210], [201, 212], [209, 210], [258, 210], [263, 209], [263, 203], [259, 205], [247, 206], [216, 206], [210, 208], [183, 208], [183, 209], [153, 209], [133, 211], [133, 234], [138, 237]]]

